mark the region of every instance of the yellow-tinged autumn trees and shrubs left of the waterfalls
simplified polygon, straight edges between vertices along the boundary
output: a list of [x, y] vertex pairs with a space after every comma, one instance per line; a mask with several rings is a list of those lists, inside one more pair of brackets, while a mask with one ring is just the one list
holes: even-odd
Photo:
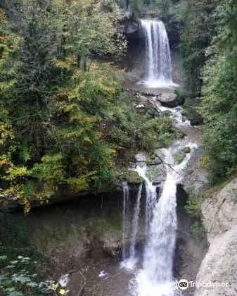
[[[138, 11], [139, 1], [132, 5]], [[62, 186], [101, 190], [122, 178], [136, 149], [151, 152], [174, 140], [171, 119], [137, 113], [134, 98], [122, 94], [123, 71], [96, 61], [126, 49], [114, 0], [5, 7], [0, 175], [3, 193], [17, 197], [25, 211], [32, 199], [48, 199]]]

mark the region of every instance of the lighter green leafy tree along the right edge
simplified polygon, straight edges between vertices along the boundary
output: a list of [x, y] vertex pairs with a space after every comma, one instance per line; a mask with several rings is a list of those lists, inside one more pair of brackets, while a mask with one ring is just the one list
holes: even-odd
[[202, 142], [212, 182], [228, 177], [237, 165], [237, 6], [234, 1], [217, 9], [219, 35], [203, 71], [203, 97], [198, 111], [205, 120]]

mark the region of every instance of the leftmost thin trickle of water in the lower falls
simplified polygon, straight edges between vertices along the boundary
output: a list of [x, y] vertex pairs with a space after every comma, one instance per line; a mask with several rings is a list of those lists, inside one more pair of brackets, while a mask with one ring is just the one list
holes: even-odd
[[127, 182], [123, 183], [123, 209], [122, 209], [122, 260], [126, 258], [125, 239], [128, 230], [129, 216], [129, 187]]

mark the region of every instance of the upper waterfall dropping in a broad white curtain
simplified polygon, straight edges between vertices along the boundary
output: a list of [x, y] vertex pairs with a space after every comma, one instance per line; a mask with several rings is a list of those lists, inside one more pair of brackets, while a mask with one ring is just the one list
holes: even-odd
[[146, 42], [146, 78], [148, 87], [172, 87], [169, 39], [161, 20], [141, 20], [141, 34]]

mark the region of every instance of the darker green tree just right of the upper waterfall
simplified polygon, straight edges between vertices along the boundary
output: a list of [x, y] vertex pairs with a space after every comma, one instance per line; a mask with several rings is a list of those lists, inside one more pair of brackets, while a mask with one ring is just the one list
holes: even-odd
[[186, 73], [188, 95], [198, 97], [202, 87], [201, 70], [207, 56], [205, 50], [212, 41], [215, 1], [184, 1], [181, 7], [181, 51]]

